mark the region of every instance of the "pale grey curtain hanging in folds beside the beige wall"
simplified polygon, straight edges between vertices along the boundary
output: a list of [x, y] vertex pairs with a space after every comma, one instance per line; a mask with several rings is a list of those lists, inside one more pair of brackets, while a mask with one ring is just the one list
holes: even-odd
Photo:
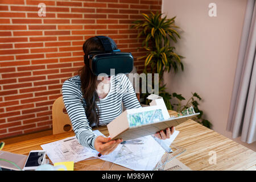
[[226, 130], [242, 142], [256, 140], [256, 5], [248, 0]]

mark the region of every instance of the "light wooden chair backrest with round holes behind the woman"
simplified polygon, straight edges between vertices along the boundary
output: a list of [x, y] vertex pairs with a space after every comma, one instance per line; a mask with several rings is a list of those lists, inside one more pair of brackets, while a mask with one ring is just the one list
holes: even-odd
[[52, 105], [52, 129], [53, 135], [72, 130], [72, 124], [62, 96], [57, 98]]

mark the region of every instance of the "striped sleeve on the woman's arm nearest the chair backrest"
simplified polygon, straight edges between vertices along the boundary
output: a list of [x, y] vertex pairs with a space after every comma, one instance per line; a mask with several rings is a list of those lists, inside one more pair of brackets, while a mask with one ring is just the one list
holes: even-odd
[[66, 80], [62, 86], [62, 94], [77, 140], [82, 146], [95, 149], [94, 141], [97, 136], [86, 118], [80, 87], [75, 82]]

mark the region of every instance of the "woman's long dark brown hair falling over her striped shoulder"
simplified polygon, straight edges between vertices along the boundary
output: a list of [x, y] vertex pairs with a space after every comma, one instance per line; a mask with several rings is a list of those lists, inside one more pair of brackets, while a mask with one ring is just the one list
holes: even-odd
[[[108, 37], [110, 43], [112, 44], [113, 50], [117, 49], [117, 45], [114, 40]], [[104, 51], [104, 47], [100, 40], [96, 37], [91, 37], [87, 39], [82, 45], [85, 56], [88, 57], [90, 51]], [[86, 102], [85, 114], [89, 120], [90, 126], [95, 123], [98, 127], [98, 121], [100, 118], [100, 109], [98, 108], [96, 101], [100, 101], [98, 94], [96, 92], [96, 81], [97, 76], [92, 73], [90, 68], [86, 65], [82, 67], [79, 71], [81, 78], [81, 91]]]

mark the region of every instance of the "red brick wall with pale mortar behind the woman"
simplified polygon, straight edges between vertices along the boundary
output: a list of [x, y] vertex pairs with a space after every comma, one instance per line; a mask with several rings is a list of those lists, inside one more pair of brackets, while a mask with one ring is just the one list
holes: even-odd
[[[39, 3], [46, 17], [38, 16]], [[51, 107], [64, 80], [83, 63], [82, 44], [95, 35], [113, 38], [133, 53], [138, 72], [144, 55], [131, 22], [161, 10], [162, 0], [1, 0], [0, 138], [51, 129]]]

